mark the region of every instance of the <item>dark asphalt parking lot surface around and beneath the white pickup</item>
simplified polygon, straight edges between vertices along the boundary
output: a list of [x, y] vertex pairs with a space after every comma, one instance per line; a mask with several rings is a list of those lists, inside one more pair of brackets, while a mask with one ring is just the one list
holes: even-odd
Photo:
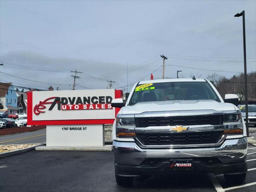
[[248, 144], [248, 174], [242, 186], [223, 175], [158, 176], [133, 186], [118, 186], [113, 152], [35, 151], [0, 159], [1, 192], [254, 192], [256, 146]]

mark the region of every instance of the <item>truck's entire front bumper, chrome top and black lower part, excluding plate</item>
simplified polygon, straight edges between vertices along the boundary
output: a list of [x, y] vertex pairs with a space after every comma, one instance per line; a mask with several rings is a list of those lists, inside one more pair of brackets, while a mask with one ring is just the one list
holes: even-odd
[[[140, 176], [170, 172], [170, 160], [193, 160], [193, 172], [239, 174], [247, 171], [247, 138], [225, 140], [214, 148], [142, 149], [114, 141], [116, 174]], [[175, 171], [176, 172], [176, 171]]]

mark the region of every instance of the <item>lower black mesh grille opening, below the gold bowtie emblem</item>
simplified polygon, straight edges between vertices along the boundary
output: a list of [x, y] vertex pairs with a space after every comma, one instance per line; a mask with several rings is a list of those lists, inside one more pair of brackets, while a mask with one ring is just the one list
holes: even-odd
[[223, 131], [184, 133], [138, 133], [137, 138], [144, 145], [214, 144]]

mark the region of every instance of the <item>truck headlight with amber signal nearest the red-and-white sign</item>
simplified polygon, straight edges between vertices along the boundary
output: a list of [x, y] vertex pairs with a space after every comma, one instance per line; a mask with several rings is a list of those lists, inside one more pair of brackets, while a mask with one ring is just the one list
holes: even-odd
[[116, 137], [136, 137], [134, 115], [117, 115]]

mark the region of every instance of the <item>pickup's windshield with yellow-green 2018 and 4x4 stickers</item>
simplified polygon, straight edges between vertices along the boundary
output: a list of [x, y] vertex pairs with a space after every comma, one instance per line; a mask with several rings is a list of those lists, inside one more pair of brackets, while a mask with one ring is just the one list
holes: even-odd
[[138, 102], [170, 100], [215, 100], [220, 99], [208, 82], [162, 82], [138, 85], [129, 105]]

